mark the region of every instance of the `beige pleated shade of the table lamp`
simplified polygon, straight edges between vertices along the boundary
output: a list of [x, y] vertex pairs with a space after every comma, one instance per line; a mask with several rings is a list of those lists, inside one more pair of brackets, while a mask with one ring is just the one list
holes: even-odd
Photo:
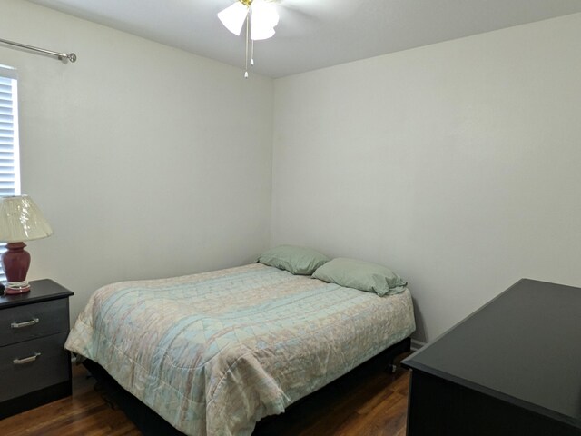
[[21, 243], [51, 234], [53, 229], [28, 195], [0, 197], [0, 242]]

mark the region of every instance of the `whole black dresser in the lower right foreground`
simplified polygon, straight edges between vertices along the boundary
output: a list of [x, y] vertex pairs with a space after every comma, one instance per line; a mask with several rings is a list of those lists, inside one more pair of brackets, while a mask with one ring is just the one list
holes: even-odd
[[579, 436], [581, 289], [523, 279], [402, 364], [409, 436]]

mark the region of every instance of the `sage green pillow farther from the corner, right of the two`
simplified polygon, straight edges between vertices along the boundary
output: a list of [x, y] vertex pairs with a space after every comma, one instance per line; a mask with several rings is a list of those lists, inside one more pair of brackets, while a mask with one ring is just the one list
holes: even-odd
[[325, 263], [312, 277], [346, 288], [375, 292], [379, 296], [402, 292], [408, 284], [385, 266], [342, 257]]

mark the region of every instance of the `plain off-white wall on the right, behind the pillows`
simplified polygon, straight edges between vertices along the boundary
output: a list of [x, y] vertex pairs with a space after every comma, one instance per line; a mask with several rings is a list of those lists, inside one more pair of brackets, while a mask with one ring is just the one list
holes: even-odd
[[277, 80], [271, 244], [389, 265], [419, 341], [581, 286], [580, 116], [580, 14]]

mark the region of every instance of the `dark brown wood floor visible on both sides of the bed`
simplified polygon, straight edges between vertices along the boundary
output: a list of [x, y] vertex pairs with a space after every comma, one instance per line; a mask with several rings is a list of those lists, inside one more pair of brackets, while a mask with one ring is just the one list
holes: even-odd
[[[268, 417], [256, 436], [404, 436], [409, 373], [385, 372], [384, 362], [366, 362], [347, 376]], [[73, 396], [0, 421], [3, 436], [137, 436], [141, 433], [94, 390], [82, 366], [74, 368]], [[160, 435], [162, 436], [162, 435]]]

